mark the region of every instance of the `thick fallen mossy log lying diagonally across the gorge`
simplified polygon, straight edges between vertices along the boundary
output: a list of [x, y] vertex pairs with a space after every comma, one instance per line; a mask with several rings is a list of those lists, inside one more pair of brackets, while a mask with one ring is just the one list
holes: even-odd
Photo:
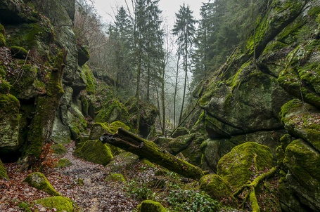
[[100, 137], [100, 140], [102, 143], [109, 143], [127, 152], [132, 152], [139, 157], [146, 158], [186, 178], [198, 180], [205, 175], [203, 170], [198, 166], [193, 166], [187, 161], [179, 159], [165, 150], [161, 150], [152, 141], [140, 138], [124, 128], [118, 128], [116, 134], [105, 133]]

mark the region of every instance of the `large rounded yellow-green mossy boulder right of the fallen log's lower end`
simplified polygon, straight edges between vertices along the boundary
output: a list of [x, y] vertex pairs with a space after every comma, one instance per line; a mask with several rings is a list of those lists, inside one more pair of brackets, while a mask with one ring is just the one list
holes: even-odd
[[233, 189], [238, 189], [252, 174], [271, 168], [274, 159], [269, 147], [247, 142], [233, 147], [218, 162], [217, 174], [229, 182]]

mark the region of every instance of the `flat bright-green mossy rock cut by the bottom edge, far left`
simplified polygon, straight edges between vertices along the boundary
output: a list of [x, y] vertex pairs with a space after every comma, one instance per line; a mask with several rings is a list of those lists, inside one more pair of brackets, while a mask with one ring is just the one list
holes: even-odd
[[72, 212], [75, 211], [75, 203], [67, 197], [47, 197], [33, 201], [34, 204], [41, 204], [42, 206], [53, 209], [58, 212]]

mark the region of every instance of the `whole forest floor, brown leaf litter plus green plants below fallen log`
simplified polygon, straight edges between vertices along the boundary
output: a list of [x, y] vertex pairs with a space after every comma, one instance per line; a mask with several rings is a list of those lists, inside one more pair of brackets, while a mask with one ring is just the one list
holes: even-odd
[[[75, 202], [75, 211], [137, 211], [137, 206], [145, 199], [159, 201], [169, 211], [238, 211], [224, 207], [223, 202], [201, 192], [198, 181], [182, 178], [135, 154], [121, 152], [104, 167], [74, 157], [74, 142], [65, 147], [68, 152], [59, 158], [69, 159], [72, 165], [49, 168], [41, 173], [61, 196]], [[50, 197], [23, 182], [34, 170], [19, 171], [17, 163], [4, 166], [9, 180], [0, 180], [0, 211], [25, 211], [19, 207], [21, 203], [27, 204], [30, 211], [56, 211], [56, 208], [32, 204], [36, 199]], [[121, 173], [125, 182], [106, 180], [114, 173]]]

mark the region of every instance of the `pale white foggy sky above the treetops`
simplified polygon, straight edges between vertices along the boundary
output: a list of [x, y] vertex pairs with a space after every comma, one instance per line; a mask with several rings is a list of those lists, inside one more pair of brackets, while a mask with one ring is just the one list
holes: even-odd
[[[103, 16], [104, 22], [113, 22], [117, 8], [124, 6], [127, 8], [124, 0], [94, 0], [98, 13]], [[162, 10], [162, 17], [167, 22], [169, 27], [173, 27], [175, 20], [175, 13], [178, 13], [180, 6], [183, 4], [189, 5], [193, 11], [193, 17], [197, 20], [200, 18], [199, 11], [203, 5], [202, 2], [207, 0], [160, 0], [159, 8]], [[132, 1], [127, 0], [130, 10], [132, 9]]]

